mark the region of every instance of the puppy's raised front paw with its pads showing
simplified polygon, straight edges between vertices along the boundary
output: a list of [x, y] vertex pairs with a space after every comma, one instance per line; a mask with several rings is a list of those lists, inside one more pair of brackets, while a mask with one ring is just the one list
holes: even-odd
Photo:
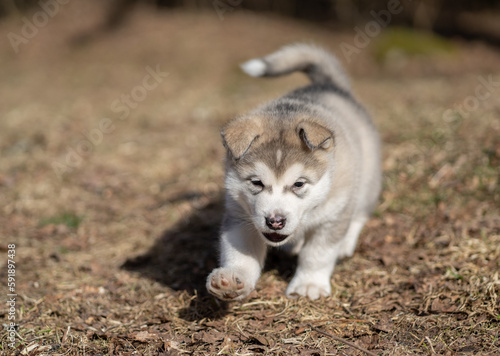
[[250, 294], [253, 286], [244, 277], [229, 268], [216, 268], [207, 278], [207, 290], [222, 300], [239, 300]]

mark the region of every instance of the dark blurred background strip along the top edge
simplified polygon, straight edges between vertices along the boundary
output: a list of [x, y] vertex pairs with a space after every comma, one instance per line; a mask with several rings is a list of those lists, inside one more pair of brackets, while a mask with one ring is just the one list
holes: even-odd
[[[39, 3], [38, 0], [1, 0], [0, 16], [24, 13], [36, 8]], [[495, 0], [107, 0], [100, 3], [107, 11], [102, 26], [108, 29], [123, 24], [137, 5], [147, 5], [159, 11], [216, 9], [219, 14], [231, 12], [238, 7], [339, 29], [366, 22], [371, 19], [370, 9], [384, 9], [392, 3], [396, 7], [398, 4], [403, 5], [404, 9], [392, 19], [391, 25], [434, 31], [444, 36], [462, 36], [496, 44], [500, 42], [500, 4]]]

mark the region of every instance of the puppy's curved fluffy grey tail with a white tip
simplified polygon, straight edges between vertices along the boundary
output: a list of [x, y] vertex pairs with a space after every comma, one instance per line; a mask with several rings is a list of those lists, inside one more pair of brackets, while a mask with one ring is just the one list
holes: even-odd
[[304, 72], [314, 84], [335, 85], [350, 91], [350, 82], [337, 58], [322, 48], [293, 44], [263, 58], [251, 59], [241, 69], [252, 77], [272, 77]]

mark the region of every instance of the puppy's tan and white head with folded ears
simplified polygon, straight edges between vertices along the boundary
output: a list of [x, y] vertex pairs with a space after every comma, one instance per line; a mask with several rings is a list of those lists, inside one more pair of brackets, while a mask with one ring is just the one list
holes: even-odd
[[265, 241], [284, 244], [330, 189], [334, 135], [311, 118], [243, 117], [222, 131], [226, 189]]

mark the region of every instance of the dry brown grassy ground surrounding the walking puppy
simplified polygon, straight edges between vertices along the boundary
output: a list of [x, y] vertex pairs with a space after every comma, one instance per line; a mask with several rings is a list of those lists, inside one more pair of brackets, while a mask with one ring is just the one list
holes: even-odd
[[[0, 305], [1, 354], [498, 353], [498, 50], [453, 39], [444, 54], [380, 59], [381, 34], [346, 56], [354, 31], [239, 8], [140, 9], [85, 37], [102, 19], [92, 4], [64, 5], [18, 53], [0, 39], [0, 275], [17, 294], [2, 287], [15, 305]], [[287, 299], [295, 261], [273, 251], [256, 291], [222, 303], [204, 288], [219, 128], [307, 83], [237, 65], [298, 40], [339, 54], [380, 130], [380, 205], [330, 297]]]

